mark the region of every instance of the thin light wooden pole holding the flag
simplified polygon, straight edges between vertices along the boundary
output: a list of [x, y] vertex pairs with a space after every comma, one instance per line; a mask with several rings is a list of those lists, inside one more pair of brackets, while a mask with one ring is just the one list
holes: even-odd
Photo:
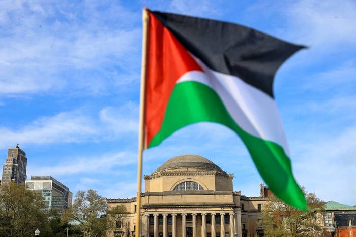
[[140, 120], [138, 129], [138, 163], [137, 163], [137, 199], [136, 199], [136, 237], [141, 234], [141, 183], [142, 183], [142, 153], [144, 149], [144, 97], [146, 87], [146, 58], [147, 58], [147, 29], [149, 14], [147, 9], [142, 11], [142, 61], [141, 61], [141, 90], [140, 90]]

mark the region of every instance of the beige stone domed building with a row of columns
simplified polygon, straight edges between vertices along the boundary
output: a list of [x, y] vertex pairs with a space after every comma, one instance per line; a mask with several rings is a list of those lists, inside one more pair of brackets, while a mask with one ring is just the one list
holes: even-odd
[[[151, 175], [145, 175], [141, 194], [141, 235], [147, 237], [263, 236], [258, 224], [268, 188], [260, 197], [233, 191], [233, 174], [198, 155], [176, 156]], [[124, 223], [117, 223], [111, 236], [136, 230], [136, 198], [107, 199], [109, 207], [125, 205]], [[129, 223], [129, 225], [127, 225]], [[236, 235], [237, 234], [237, 235]]]

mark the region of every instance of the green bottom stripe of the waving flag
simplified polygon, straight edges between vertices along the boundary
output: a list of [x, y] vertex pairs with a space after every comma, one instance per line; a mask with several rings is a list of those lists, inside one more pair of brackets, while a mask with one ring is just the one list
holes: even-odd
[[185, 81], [175, 85], [161, 130], [149, 147], [159, 145], [176, 130], [197, 122], [216, 122], [235, 131], [245, 143], [259, 174], [272, 192], [287, 204], [307, 209], [304, 194], [293, 177], [290, 160], [282, 147], [242, 130], [227, 112], [217, 93], [202, 83]]

